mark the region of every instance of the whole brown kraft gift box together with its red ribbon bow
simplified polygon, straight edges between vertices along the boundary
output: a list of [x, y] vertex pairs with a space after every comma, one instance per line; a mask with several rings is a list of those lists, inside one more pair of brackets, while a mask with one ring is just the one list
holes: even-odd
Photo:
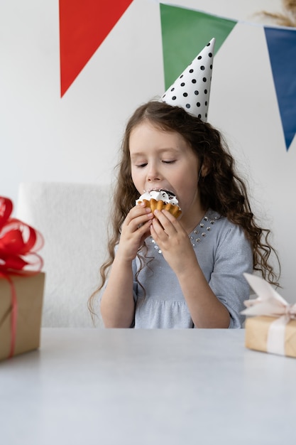
[[0, 196], [0, 360], [39, 347], [45, 284], [43, 237], [12, 210]]

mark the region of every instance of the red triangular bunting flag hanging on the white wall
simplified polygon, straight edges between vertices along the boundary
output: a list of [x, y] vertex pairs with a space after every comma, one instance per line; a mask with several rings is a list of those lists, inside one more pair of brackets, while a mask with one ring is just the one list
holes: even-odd
[[61, 97], [132, 1], [60, 0]]

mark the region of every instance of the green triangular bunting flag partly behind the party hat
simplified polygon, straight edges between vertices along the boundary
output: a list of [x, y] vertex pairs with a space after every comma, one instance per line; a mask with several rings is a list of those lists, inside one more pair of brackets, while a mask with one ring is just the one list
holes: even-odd
[[160, 4], [160, 21], [165, 90], [213, 37], [216, 39], [216, 54], [237, 23], [167, 4]]

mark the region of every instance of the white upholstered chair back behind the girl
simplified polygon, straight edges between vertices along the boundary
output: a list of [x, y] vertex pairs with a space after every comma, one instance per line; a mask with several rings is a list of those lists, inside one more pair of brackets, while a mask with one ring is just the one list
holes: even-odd
[[42, 326], [102, 326], [100, 318], [94, 326], [87, 301], [106, 259], [110, 195], [108, 184], [20, 184], [16, 218], [45, 239], [40, 250], [45, 272]]

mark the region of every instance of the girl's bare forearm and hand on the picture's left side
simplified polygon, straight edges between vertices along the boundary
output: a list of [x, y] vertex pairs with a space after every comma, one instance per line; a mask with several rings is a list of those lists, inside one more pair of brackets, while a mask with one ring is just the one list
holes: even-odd
[[153, 214], [145, 204], [136, 205], [121, 227], [118, 250], [101, 299], [101, 314], [106, 328], [130, 328], [135, 312], [132, 262], [150, 235]]

